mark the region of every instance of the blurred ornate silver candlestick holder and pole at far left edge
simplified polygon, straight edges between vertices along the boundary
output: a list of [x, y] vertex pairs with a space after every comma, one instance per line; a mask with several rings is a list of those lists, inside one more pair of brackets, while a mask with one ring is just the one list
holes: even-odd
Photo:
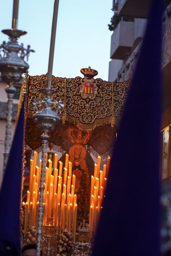
[[13, 97], [16, 91], [14, 84], [22, 79], [22, 74], [27, 73], [29, 68], [25, 57], [28, 61], [30, 52], [34, 50], [23, 44], [18, 43], [18, 38], [27, 34], [23, 30], [6, 29], [2, 30], [4, 34], [9, 36], [9, 41], [0, 45], [0, 72], [1, 79], [7, 83], [5, 91], [7, 92], [7, 118], [6, 118], [6, 131], [5, 131], [5, 148], [4, 148], [4, 172], [7, 166], [9, 152], [11, 148], [11, 130], [12, 130], [12, 112], [13, 112]]

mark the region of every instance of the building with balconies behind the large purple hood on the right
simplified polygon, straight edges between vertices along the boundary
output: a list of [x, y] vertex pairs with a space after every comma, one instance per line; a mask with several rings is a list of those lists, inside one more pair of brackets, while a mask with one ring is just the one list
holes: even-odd
[[[148, 0], [114, 0], [114, 18], [119, 16], [111, 36], [109, 81], [124, 81], [133, 76], [141, 50], [147, 16]], [[161, 123], [160, 177], [171, 176], [171, 1], [166, 1], [163, 16], [163, 104]], [[132, 20], [131, 20], [132, 18]]]

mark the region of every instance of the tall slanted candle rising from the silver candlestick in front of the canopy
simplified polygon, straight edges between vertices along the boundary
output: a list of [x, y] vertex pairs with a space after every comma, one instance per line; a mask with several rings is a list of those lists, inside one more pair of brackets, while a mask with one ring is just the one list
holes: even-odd
[[51, 88], [51, 81], [52, 81], [52, 67], [53, 67], [53, 58], [54, 58], [56, 23], [57, 23], [57, 17], [58, 17], [58, 4], [59, 4], [59, 0], [54, 0], [54, 11], [53, 11], [52, 32], [51, 32], [51, 39], [50, 39], [49, 63], [48, 63], [48, 74], [47, 74], [48, 89]]

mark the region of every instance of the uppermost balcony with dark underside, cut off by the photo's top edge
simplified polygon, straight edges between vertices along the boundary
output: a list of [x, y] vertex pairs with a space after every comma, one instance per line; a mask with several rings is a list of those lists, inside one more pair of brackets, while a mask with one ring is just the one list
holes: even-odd
[[[170, 0], [165, 1], [166, 6]], [[133, 18], [147, 18], [151, 1], [149, 0], [119, 0], [118, 14]]]

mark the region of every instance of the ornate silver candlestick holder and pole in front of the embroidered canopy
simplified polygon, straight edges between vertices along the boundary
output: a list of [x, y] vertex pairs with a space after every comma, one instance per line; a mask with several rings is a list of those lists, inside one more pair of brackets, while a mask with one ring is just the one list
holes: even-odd
[[[45, 161], [46, 161], [46, 148], [49, 139], [48, 132], [55, 128], [56, 121], [60, 120], [58, 112], [61, 113], [62, 101], [52, 101], [52, 95], [57, 93], [56, 90], [43, 88], [40, 89], [42, 94], [45, 94], [45, 98], [39, 102], [33, 102], [33, 109], [37, 111], [33, 118], [38, 124], [38, 128], [42, 131], [42, 168], [40, 178], [40, 200], [39, 200], [39, 212], [38, 212], [38, 233], [37, 233], [37, 256], [40, 256], [41, 243], [42, 243], [42, 220], [43, 220], [43, 191], [44, 191], [44, 177], [45, 177]], [[40, 110], [38, 111], [38, 106]], [[56, 112], [52, 111], [52, 106], [57, 106]]]

